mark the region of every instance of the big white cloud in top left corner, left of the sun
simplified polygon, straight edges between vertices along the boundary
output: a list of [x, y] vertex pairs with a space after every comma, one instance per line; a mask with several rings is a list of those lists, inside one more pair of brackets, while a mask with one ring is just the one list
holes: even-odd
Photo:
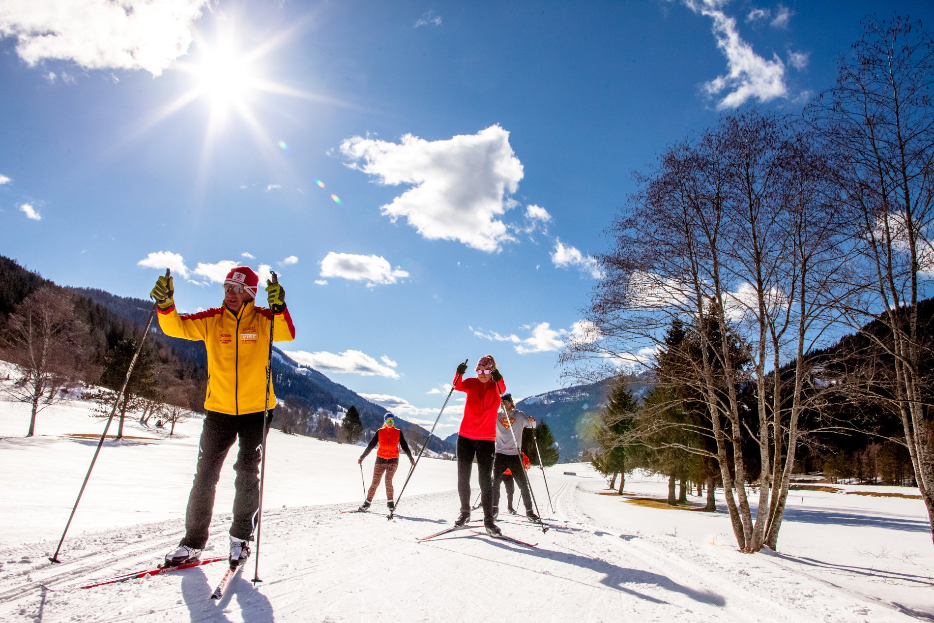
[[[27, 64], [73, 61], [84, 69], [162, 74], [191, 44], [208, 0], [21, 0], [0, 5], [0, 36], [16, 37]], [[64, 79], [64, 75], [63, 75]]]

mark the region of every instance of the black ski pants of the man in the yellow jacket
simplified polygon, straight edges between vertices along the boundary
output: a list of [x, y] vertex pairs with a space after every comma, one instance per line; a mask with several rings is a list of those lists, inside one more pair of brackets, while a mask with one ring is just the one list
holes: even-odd
[[260, 509], [260, 460], [262, 460], [262, 435], [269, 431], [273, 421], [273, 410], [269, 410], [265, 430], [262, 426], [262, 411], [229, 416], [225, 413], [208, 411], [205, 426], [198, 442], [198, 469], [188, 496], [185, 511], [185, 538], [179, 545], [204, 549], [207, 545], [208, 527], [214, 512], [214, 496], [220, 479], [220, 468], [227, 458], [227, 451], [240, 438], [233, 470], [236, 478], [233, 486], [233, 523], [231, 536], [251, 541]]

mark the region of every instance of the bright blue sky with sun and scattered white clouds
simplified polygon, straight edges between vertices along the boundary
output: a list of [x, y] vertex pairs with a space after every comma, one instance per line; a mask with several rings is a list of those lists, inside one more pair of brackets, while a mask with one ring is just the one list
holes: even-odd
[[633, 170], [723, 110], [800, 111], [833, 85], [868, 13], [934, 13], [716, 0], [8, 6], [0, 252], [61, 284], [138, 297], [170, 265], [186, 311], [220, 303], [222, 262], [271, 267], [296, 359], [429, 422], [457, 364], [488, 352], [517, 397], [560, 386], [557, 348]]

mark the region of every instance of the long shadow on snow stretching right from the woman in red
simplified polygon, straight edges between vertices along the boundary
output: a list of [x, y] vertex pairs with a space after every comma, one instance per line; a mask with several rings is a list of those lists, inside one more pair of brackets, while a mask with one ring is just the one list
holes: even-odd
[[[479, 537], [484, 538], [484, 537]], [[603, 578], [600, 580], [600, 583], [607, 588], [613, 588], [620, 592], [627, 593], [633, 597], [645, 600], [646, 602], [653, 603], [668, 603], [664, 600], [659, 600], [656, 597], [651, 597], [649, 595], [644, 595], [643, 593], [635, 590], [633, 588], [628, 588], [625, 585], [627, 584], [654, 584], [658, 588], [668, 590], [674, 593], [681, 593], [686, 597], [694, 600], [695, 602], [709, 603], [717, 607], [722, 607], [727, 603], [727, 600], [723, 596], [717, 595], [714, 592], [708, 592], [703, 590], [695, 590], [694, 588], [686, 587], [681, 584], [678, 584], [672, 578], [661, 575], [659, 573], [652, 573], [648, 571], [643, 571], [642, 569], [630, 569], [629, 567], [619, 567], [612, 562], [607, 562], [603, 559], [593, 558], [591, 556], [586, 556], [583, 554], [569, 553], [569, 552], [558, 552], [551, 549], [544, 549], [542, 547], [536, 547], [531, 549], [529, 547], [523, 547], [521, 545], [509, 545], [506, 542], [496, 541], [493, 539], [485, 539], [490, 545], [500, 547], [507, 551], [516, 552], [520, 554], [525, 554], [527, 556], [534, 556], [540, 559], [554, 560], [556, 562], [563, 562], [565, 564], [573, 564], [576, 567], [581, 567], [583, 569], [589, 569], [594, 573], [603, 573]], [[502, 563], [502, 560], [498, 560]], [[508, 564], [508, 563], [506, 563]], [[528, 567], [523, 567], [527, 571], [531, 571]], [[541, 572], [533, 572], [541, 573]], [[556, 573], [546, 573], [552, 577], [561, 577]], [[571, 580], [571, 578], [562, 578]], [[571, 580], [574, 581], [574, 580]]]

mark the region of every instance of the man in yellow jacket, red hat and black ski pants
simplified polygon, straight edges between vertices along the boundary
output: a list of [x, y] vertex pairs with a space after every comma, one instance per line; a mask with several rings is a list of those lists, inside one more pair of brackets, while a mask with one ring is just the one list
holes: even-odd
[[[274, 340], [295, 339], [285, 290], [267, 281], [269, 309], [253, 303], [259, 277], [247, 266], [237, 266], [224, 279], [224, 303], [197, 314], [179, 316], [173, 295], [172, 277], [160, 276], [151, 296], [159, 306], [159, 325], [166, 335], [201, 340], [207, 348], [207, 391], [205, 424], [198, 444], [198, 467], [185, 513], [185, 537], [177, 549], [165, 556], [174, 566], [201, 558], [207, 545], [208, 526], [214, 512], [214, 494], [220, 468], [237, 437], [237, 461], [231, 525], [231, 566], [246, 562], [248, 543], [256, 529], [260, 508], [260, 460], [262, 436], [269, 418], [262, 421], [266, 400], [266, 364], [269, 354], [269, 323]], [[269, 404], [276, 405], [270, 380]], [[263, 424], [265, 426], [263, 426]]]

